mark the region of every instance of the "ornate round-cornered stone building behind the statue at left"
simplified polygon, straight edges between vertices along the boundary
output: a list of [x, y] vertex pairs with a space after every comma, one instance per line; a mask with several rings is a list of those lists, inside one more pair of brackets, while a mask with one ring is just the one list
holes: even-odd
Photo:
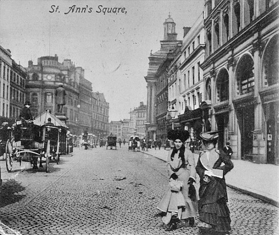
[[75, 76], [76, 68], [71, 60], [58, 62], [58, 56], [42, 56], [38, 58], [37, 65], [32, 61], [28, 62], [28, 79], [26, 84], [26, 100], [30, 101], [30, 110], [34, 116], [39, 116], [45, 110], [50, 110], [52, 114], [58, 112], [56, 105], [55, 89], [62, 85], [65, 89], [65, 105], [63, 115], [69, 117], [67, 126], [73, 134], [79, 128], [78, 103], [79, 103], [79, 77]]

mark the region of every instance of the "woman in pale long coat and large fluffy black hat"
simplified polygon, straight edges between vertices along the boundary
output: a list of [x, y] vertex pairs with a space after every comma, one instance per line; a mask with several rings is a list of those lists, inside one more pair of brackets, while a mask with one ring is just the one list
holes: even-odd
[[[174, 141], [175, 147], [169, 151], [167, 159], [167, 172], [171, 181], [182, 181], [181, 199], [178, 192], [171, 191], [170, 186], [163, 195], [157, 209], [166, 213], [162, 218], [167, 224], [166, 230], [177, 228], [178, 219], [189, 219], [189, 225], [194, 225], [194, 217], [197, 214], [197, 197], [191, 190], [189, 197], [189, 187], [193, 189], [193, 183], [196, 181], [195, 159], [191, 151], [185, 149], [185, 141], [189, 138], [189, 132], [186, 130], [171, 130], [168, 132], [168, 138]], [[182, 201], [184, 200], [184, 201]]]

